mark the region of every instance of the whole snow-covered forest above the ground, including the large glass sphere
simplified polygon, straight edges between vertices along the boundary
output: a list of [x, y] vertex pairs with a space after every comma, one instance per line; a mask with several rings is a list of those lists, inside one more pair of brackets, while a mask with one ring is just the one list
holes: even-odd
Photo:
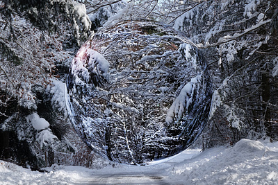
[[277, 89], [277, 0], [0, 0], [0, 159], [24, 168], [277, 141]]

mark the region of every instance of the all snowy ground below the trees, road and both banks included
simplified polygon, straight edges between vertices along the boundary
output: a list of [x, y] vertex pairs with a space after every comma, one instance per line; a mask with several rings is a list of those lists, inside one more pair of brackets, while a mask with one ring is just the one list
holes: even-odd
[[278, 142], [243, 139], [232, 148], [185, 152], [149, 166], [33, 172], [0, 161], [0, 184], [278, 184]]

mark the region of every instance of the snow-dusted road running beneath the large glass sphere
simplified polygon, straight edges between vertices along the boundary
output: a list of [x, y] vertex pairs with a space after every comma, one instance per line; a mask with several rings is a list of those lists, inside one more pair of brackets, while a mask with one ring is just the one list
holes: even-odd
[[169, 179], [169, 171], [174, 170], [174, 166], [182, 161], [199, 155], [199, 152], [186, 150], [174, 157], [153, 161], [148, 166], [117, 166], [94, 170], [93, 175], [76, 179], [74, 184], [175, 184]]

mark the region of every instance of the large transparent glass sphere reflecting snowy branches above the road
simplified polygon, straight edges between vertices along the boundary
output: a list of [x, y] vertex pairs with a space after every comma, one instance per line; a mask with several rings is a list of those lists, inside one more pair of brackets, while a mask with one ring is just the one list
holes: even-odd
[[188, 148], [206, 125], [211, 100], [202, 53], [155, 21], [101, 28], [76, 53], [67, 89], [67, 109], [83, 141], [125, 164]]

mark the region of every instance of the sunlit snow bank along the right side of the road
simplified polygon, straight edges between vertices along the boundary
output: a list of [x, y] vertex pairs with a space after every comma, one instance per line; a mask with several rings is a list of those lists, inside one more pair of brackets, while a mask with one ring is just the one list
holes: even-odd
[[182, 184], [277, 184], [278, 143], [243, 139], [232, 148], [213, 148], [175, 168]]

